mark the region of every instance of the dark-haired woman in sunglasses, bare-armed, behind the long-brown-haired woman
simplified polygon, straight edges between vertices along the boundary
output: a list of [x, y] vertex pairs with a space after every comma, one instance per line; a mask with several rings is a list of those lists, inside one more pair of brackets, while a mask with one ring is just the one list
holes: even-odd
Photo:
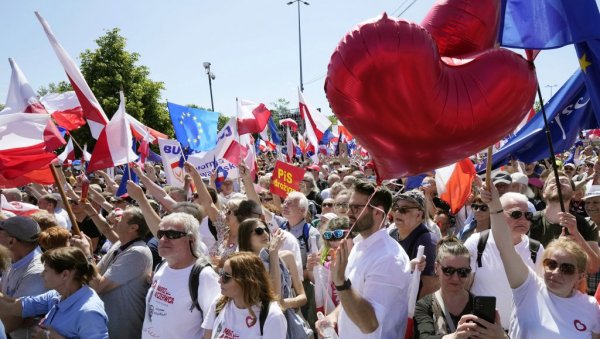
[[[271, 236], [262, 220], [247, 219], [239, 227], [239, 249], [260, 257], [269, 272], [273, 291], [281, 296], [281, 306], [284, 309], [296, 309], [306, 304], [306, 294], [294, 255], [290, 251], [280, 251], [284, 239], [282, 232], [277, 230]], [[273, 262], [277, 264], [272, 265]]]

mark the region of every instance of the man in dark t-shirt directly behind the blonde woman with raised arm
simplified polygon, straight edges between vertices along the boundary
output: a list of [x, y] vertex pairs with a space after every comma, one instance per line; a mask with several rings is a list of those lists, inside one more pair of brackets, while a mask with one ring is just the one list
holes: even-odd
[[[568, 208], [575, 185], [563, 172], [559, 172], [558, 179], [564, 206]], [[548, 243], [561, 235], [571, 237], [588, 255], [588, 272], [597, 272], [600, 267], [600, 248], [596, 223], [579, 215], [561, 212], [554, 175], [550, 175], [544, 182], [543, 197], [546, 201], [546, 209], [534, 215], [529, 232], [530, 238], [538, 240], [547, 247]]]

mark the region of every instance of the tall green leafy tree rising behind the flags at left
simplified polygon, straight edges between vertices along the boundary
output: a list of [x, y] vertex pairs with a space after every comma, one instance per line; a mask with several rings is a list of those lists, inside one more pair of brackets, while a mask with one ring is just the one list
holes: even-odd
[[[104, 112], [110, 119], [119, 106], [119, 90], [125, 93], [125, 110], [143, 124], [173, 135], [167, 106], [161, 102], [164, 83], [149, 78], [150, 70], [138, 65], [140, 55], [125, 50], [126, 39], [113, 28], [96, 39], [98, 48], [81, 53], [83, 74]], [[51, 84], [52, 85], [52, 84]], [[50, 87], [50, 85], [48, 85]], [[57, 87], [61, 87], [60, 83]], [[45, 88], [40, 88], [40, 91]], [[39, 92], [39, 91], [38, 91]], [[80, 143], [93, 140], [87, 128], [75, 133]]]

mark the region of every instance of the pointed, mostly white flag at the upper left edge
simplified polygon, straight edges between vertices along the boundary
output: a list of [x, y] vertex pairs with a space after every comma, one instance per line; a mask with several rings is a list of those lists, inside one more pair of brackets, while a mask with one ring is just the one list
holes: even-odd
[[0, 114], [47, 113], [17, 63], [12, 58], [9, 58], [8, 62], [10, 63], [12, 74], [10, 76], [6, 104], [4, 105], [4, 109], [0, 111]]

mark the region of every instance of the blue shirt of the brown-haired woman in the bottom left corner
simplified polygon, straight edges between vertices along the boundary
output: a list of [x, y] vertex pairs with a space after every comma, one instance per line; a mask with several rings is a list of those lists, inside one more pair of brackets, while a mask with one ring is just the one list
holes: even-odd
[[104, 303], [89, 286], [61, 301], [55, 290], [21, 298], [23, 318], [46, 314], [43, 324], [66, 338], [108, 338]]

